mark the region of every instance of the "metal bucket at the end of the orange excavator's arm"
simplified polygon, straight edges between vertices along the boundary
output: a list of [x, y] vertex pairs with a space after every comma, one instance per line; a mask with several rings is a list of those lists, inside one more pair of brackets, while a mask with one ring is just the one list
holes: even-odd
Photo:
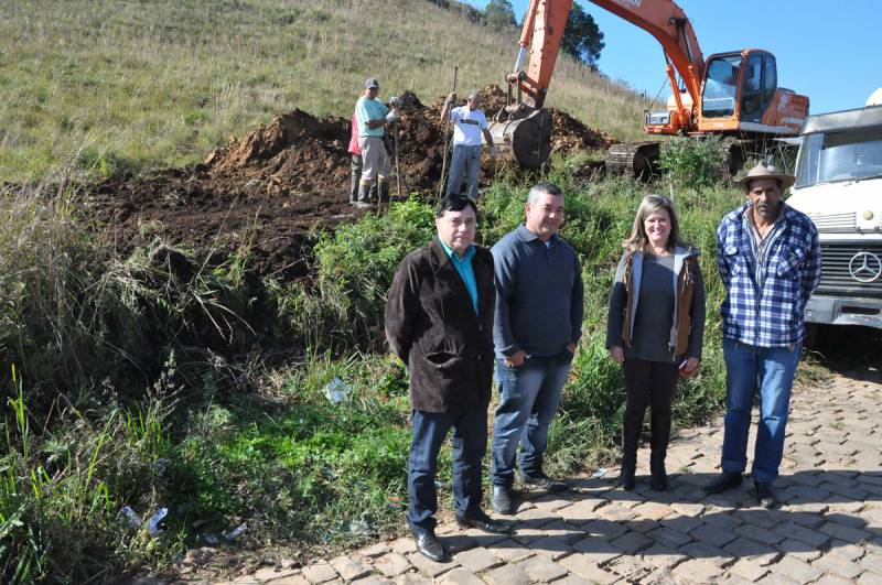
[[551, 113], [524, 105], [503, 108], [490, 123], [499, 154], [526, 169], [539, 169], [551, 154]]

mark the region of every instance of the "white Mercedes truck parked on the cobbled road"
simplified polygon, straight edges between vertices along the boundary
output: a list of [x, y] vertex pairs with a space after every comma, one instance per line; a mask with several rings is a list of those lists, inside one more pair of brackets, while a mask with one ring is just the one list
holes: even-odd
[[806, 322], [882, 329], [882, 88], [809, 116], [800, 137], [787, 203], [815, 221], [824, 270]]

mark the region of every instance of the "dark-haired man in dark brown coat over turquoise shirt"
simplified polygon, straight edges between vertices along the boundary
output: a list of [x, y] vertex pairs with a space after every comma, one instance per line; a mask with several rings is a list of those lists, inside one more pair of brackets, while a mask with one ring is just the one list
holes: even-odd
[[417, 550], [433, 561], [447, 559], [434, 535], [434, 477], [451, 429], [456, 522], [508, 533], [481, 507], [496, 292], [493, 257], [472, 243], [476, 219], [472, 199], [444, 198], [435, 212], [438, 237], [401, 261], [386, 304], [386, 337], [410, 372], [407, 520]]

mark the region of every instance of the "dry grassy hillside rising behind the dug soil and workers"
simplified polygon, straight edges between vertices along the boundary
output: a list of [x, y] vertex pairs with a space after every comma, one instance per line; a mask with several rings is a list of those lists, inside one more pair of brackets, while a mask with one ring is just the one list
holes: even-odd
[[[0, 180], [200, 161], [301, 108], [348, 116], [362, 83], [430, 100], [499, 84], [517, 32], [426, 0], [0, 0]], [[561, 58], [548, 105], [622, 139], [639, 97]]]

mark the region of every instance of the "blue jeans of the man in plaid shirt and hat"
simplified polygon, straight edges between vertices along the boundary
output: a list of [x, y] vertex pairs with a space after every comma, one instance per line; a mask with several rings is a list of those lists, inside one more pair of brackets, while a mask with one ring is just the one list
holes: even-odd
[[723, 472], [742, 473], [747, 466], [747, 434], [753, 397], [760, 393], [760, 421], [751, 474], [755, 481], [772, 483], [784, 454], [784, 433], [790, 388], [802, 347], [757, 347], [723, 339], [725, 359], [725, 434]]

